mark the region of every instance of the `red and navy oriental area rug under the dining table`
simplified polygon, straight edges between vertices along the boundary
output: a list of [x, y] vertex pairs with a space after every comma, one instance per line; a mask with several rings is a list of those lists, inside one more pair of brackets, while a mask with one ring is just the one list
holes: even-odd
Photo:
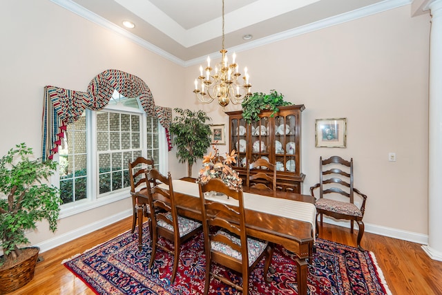
[[[127, 231], [64, 261], [64, 265], [96, 294], [202, 294], [206, 264], [203, 235], [182, 245], [177, 276], [171, 284], [173, 256], [170, 254], [159, 249], [152, 269], [148, 269], [151, 247], [147, 227], [145, 224], [142, 251], [138, 250], [135, 229], [134, 234]], [[162, 242], [167, 244], [165, 240]], [[276, 245], [271, 265], [275, 272], [269, 272], [271, 283], [268, 284], [262, 274], [262, 258], [249, 277], [249, 294], [298, 294], [294, 254]], [[213, 270], [228, 274], [242, 284], [239, 274], [218, 265], [213, 265]], [[318, 238], [308, 272], [311, 295], [391, 294], [374, 254], [355, 247]], [[236, 289], [211, 278], [209, 294], [236, 294]]]

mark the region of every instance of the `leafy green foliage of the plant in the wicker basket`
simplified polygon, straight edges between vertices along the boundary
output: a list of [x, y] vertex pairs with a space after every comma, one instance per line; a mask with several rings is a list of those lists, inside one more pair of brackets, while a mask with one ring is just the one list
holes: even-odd
[[60, 198], [56, 187], [43, 183], [57, 168], [57, 162], [30, 160], [32, 149], [17, 144], [0, 160], [0, 238], [4, 260], [15, 260], [22, 244], [28, 244], [25, 231], [48, 220], [57, 229]]

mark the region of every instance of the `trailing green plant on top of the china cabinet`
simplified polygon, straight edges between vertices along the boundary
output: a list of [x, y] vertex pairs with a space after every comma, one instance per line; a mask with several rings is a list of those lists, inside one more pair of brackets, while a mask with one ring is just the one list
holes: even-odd
[[258, 115], [262, 110], [273, 111], [270, 116], [272, 117], [278, 113], [278, 106], [289, 106], [291, 104], [291, 102], [285, 102], [284, 95], [274, 89], [272, 89], [269, 94], [256, 92], [242, 102], [242, 117], [250, 124], [252, 121], [260, 120]]

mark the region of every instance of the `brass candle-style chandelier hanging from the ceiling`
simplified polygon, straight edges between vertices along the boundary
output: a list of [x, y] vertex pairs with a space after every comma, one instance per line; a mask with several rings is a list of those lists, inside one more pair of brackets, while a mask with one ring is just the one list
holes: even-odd
[[[207, 57], [207, 66], [200, 66], [200, 76], [195, 79], [195, 93], [200, 102], [210, 104], [213, 99], [218, 99], [218, 104], [224, 107], [231, 102], [240, 104], [244, 99], [251, 96], [249, 74], [247, 67], [244, 68], [244, 76], [240, 79], [241, 73], [238, 64], [235, 63], [236, 54], [232, 55], [232, 62], [229, 64], [227, 50], [224, 49], [224, 0], [222, 0], [222, 59], [215, 68], [210, 66], [210, 57]], [[212, 71], [213, 70], [213, 71]], [[200, 80], [198, 82], [198, 80]]]

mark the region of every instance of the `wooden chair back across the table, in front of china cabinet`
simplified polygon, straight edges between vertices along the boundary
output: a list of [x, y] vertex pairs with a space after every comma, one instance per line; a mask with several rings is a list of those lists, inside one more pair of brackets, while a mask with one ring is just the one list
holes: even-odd
[[[265, 170], [262, 170], [265, 169]], [[255, 171], [258, 171], [255, 173]], [[247, 187], [276, 191], [276, 169], [267, 159], [258, 159], [247, 168]]]

